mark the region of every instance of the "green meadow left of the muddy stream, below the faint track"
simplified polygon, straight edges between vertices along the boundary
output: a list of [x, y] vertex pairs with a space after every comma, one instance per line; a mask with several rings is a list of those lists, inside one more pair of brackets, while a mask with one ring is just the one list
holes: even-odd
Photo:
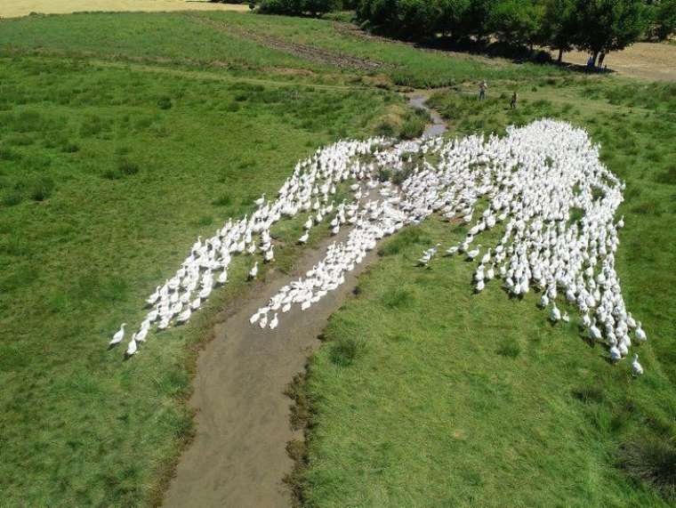
[[[110, 335], [140, 321], [197, 235], [253, 210], [321, 144], [372, 133], [401, 100], [0, 60], [2, 504], [142, 504], [189, 436], [194, 346], [247, 267], [133, 361], [106, 351]], [[281, 236], [278, 268], [298, 236]]]

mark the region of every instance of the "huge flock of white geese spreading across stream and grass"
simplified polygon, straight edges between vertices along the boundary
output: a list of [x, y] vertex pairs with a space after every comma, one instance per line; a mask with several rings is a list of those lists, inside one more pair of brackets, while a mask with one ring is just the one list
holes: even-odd
[[[381, 181], [384, 172], [399, 173], [402, 182]], [[350, 186], [351, 202], [335, 203], [340, 185]], [[349, 234], [257, 310], [250, 319], [256, 327], [278, 327], [294, 306], [310, 309], [344, 282], [378, 240], [439, 214], [466, 223], [467, 236], [447, 248], [432, 246], [422, 253], [421, 266], [436, 262], [440, 248], [446, 257], [479, 260], [477, 292], [494, 279], [515, 296], [537, 289], [554, 323], [570, 320], [557, 306], [565, 299], [579, 310], [585, 333], [605, 343], [616, 362], [628, 355], [632, 341], [647, 340], [640, 321], [625, 307], [615, 270], [617, 230], [624, 221], [614, 217], [623, 189], [624, 183], [600, 163], [587, 133], [558, 121], [510, 127], [504, 137], [339, 141], [297, 164], [277, 198], [256, 200], [254, 214], [230, 219], [212, 238], [197, 238], [181, 268], [149, 295], [150, 310], [126, 354], [136, 353], [152, 327], [186, 323], [216, 286], [227, 283], [234, 256], [251, 256], [248, 276], [256, 278], [261, 257], [274, 262], [271, 228], [283, 219], [306, 217], [301, 244], [323, 223], [334, 235], [342, 228]], [[504, 232], [496, 245], [477, 242], [482, 231], [498, 225]], [[124, 337], [125, 325], [110, 344]], [[638, 355], [632, 370], [643, 372]]]

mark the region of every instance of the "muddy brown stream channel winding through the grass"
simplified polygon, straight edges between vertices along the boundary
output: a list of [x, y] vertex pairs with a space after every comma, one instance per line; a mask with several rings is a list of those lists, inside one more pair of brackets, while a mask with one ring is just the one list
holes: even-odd
[[[446, 131], [436, 111], [420, 94], [409, 105], [432, 117], [423, 135]], [[197, 375], [189, 406], [197, 409], [196, 436], [185, 450], [165, 494], [165, 506], [287, 507], [291, 496], [282, 478], [294, 464], [286, 443], [302, 439], [289, 423], [291, 400], [283, 394], [318, 345], [326, 321], [357, 285], [357, 278], [374, 262], [371, 251], [345, 276], [345, 283], [303, 312], [297, 306], [275, 330], [253, 327], [249, 318], [265, 306], [280, 287], [299, 278], [324, 257], [326, 247], [342, 241], [348, 228], [307, 249], [290, 275], [278, 275], [250, 292], [251, 297], [214, 329], [214, 339], [197, 359]]]

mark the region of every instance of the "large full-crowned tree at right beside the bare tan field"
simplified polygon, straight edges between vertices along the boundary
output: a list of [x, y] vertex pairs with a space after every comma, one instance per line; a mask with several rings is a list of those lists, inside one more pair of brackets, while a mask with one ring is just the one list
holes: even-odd
[[636, 42], [647, 26], [642, 0], [575, 0], [575, 46], [599, 55], [623, 50]]

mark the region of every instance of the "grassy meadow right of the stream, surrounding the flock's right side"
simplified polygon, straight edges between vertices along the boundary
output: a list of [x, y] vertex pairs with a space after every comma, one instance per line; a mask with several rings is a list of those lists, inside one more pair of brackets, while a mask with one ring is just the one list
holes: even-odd
[[496, 281], [473, 294], [478, 263], [415, 267], [423, 249], [466, 233], [425, 222], [382, 246], [310, 361], [300, 389], [309, 442], [294, 479], [307, 505], [676, 502], [676, 85], [534, 79], [495, 83], [491, 94], [479, 103], [461, 88], [430, 104], [449, 135], [503, 133], [539, 117], [585, 126], [626, 181], [616, 261], [650, 337], [635, 350], [646, 375], [633, 378], [628, 360], [608, 365], [572, 309], [571, 323], [552, 327], [537, 294], [509, 299]]

